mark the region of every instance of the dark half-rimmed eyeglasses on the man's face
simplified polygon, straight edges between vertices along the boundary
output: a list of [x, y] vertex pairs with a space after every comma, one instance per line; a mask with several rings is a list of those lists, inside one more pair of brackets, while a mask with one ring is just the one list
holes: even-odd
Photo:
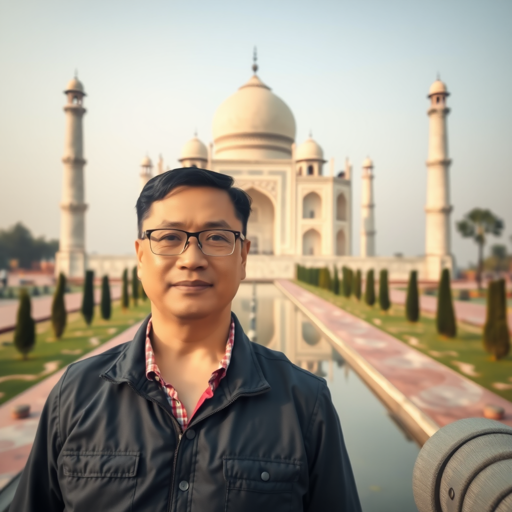
[[141, 238], [150, 241], [153, 254], [178, 256], [186, 249], [190, 237], [197, 238], [199, 248], [207, 256], [229, 256], [234, 251], [237, 238], [245, 240], [240, 231], [229, 229], [206, 229], [196, 233], [181, 229], [148, 229]]

